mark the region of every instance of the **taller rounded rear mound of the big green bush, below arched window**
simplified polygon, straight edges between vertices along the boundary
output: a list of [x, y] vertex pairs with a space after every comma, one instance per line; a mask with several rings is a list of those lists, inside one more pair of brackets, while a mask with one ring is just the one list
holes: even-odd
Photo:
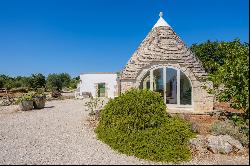
[[166, 105], [158, 93], [132, 90], [111, 100], [102, 111], [106, 127], [123, 131], [157, 127], [166, 120]]

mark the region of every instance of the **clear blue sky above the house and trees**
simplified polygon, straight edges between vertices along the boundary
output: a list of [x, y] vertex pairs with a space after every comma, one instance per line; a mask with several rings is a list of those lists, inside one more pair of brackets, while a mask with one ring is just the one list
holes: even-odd
[[248, 0], [2, 0], [0, 74], [116, 72], [164, 12], [190, 46], [249, 42]]

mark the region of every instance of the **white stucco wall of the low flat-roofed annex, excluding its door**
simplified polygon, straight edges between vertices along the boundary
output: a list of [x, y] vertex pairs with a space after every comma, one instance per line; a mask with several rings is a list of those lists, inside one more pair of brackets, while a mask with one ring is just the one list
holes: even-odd
[[114, 98], [117, 94], [117, 74], [110, 73], [94, 73], [94, 74], [81, 74], [80, 75], [80, 94], [82, 92], [90, 92], [93, 97], [96, 97], [97, 83], [105, 83], [107, 89], [107, 97]]

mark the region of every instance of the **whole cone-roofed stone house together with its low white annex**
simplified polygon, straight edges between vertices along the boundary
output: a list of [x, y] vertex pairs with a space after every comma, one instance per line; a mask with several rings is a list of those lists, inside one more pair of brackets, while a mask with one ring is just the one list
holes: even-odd
[[118, 77], [115, 73], [81, 74], [77, 94], [114, 98], [130, 88], [159, 92], [169, 111], [204, 113], [213, 110], [213, 95], [202, 63], [171, 26], [160, 18]]

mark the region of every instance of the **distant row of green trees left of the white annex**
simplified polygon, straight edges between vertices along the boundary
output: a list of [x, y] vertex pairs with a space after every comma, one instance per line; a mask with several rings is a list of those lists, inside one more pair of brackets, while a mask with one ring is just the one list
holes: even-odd
[[8, 90], [16, 88], [38, 89], [45, 88], [46, 90], [62, 90], [63, 88], [76, 89], [80, 77], [71, 78], [68, 73], [49, 74], [45, 77], [43, 74], [32, 74], [31, 76], [10, 77], [0, 75], [0, 88]]

